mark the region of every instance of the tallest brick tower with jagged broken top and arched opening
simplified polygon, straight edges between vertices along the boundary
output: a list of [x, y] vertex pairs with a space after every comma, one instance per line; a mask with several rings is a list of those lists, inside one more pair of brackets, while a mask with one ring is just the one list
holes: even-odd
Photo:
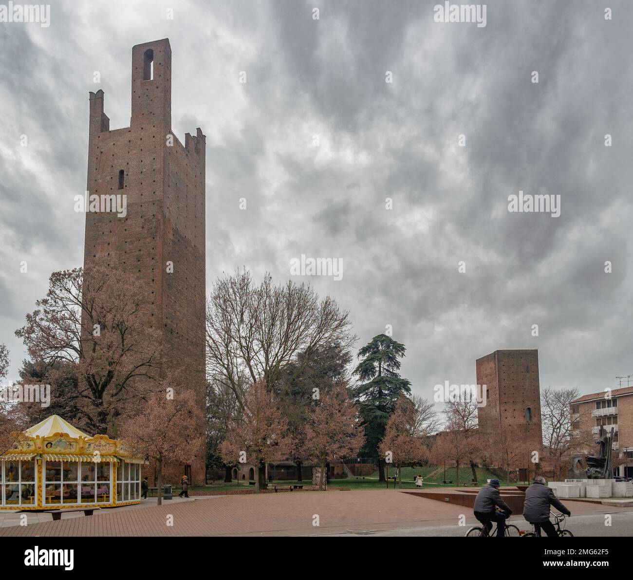
[[[110, 130], [103, 91], [90, 93], [87, 190], [125, 194], [127, 215], [87, 212], [84, 268], [104, 259], [151, 285], [147, 324], [161, 331], [165, 372], [185, 369], [204, 405], [204, 151], [201, 129], [172, 134], [172, 49], [168, 39], [132, 48], [130, 126]], [[170, 272], [168, 263], [172, 263]], [[189, 472], [204, 482], [204, 449], [193, 465], [170, 465], [166, 481]], [[154, 468], [146, 473], [153, 479]]]

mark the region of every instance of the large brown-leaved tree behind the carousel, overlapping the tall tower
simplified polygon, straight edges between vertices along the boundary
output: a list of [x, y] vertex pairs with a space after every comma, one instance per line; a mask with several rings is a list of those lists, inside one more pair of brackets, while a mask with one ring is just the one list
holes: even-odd
[[87, 428], [108, 433], [134, 412], [158, 375], [158, 334], [147, 326], [150, 292], [133, 275], [94, 267], [54, 272], [46, 298], [16, 336], [35, 362], [77, 367], [78, 407]]

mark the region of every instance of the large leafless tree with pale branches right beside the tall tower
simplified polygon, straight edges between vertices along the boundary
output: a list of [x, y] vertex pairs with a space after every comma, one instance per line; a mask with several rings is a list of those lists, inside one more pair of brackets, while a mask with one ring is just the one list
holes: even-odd
[[330, 296], [319, 300], [306, 284], [275, 286], [270, 274], [261, 284], [247, 270], [213, 284], [206, 306], [207, 368], [211, 379], [232, 389], [244, 406], [249, 384], [272, 389], [282, 369], [299, 353], [304, 360], [318, 348], [356, 337], [348, 313]]

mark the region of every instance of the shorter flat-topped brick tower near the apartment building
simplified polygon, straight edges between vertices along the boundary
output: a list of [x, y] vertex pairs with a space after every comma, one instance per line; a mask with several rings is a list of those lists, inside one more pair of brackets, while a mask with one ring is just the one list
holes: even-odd
[[517, 445], [542, 448], [538, 350], [496, 350], [477, 359], [477, 384], [487, 386], [478, 410], [485, 433], [510, 432]]

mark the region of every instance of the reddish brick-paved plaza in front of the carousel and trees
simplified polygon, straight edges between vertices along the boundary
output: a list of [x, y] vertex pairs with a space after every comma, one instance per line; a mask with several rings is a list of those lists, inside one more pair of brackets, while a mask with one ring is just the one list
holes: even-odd
[[[192, 498], [193, 499], [193, 498]], [[154, 500], [155, 501], [155, 500]], [[575, 502], [573, 514], [608, 513], [609, 507]], [[611, 508], [613, 509], [613, 508]], [[622, 508], [632, 510], [633, 508]], [[458, 526], [463, 507], [394, 491], [299, 491], [248, 496], [206, 496], [166, 501], [0, 529], [0, 536], [279, 536], [363, 533], [422, 526]], [[318, 515], [318, 526], [315, 515]], [[521, 518], [522, 520], [522, 518]]]

